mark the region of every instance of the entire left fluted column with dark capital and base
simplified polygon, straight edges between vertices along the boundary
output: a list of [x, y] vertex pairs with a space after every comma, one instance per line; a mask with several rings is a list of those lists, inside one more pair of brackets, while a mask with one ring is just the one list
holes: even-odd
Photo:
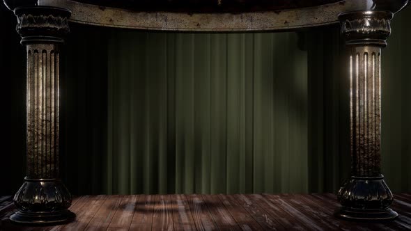
[[59, 180], [59, 46], [70, 10], [23, 6], [14, 10], [27, 55], [27, 166], [15, 194], [17, 223], [63, 223], [75, 218], [72, 197]]

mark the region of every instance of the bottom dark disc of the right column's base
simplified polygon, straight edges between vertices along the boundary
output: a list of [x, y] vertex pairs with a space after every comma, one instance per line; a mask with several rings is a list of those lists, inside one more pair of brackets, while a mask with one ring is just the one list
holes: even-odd
[[391, 221], [398, 214], [392, 209], [350, 209], [341, 207], [334, 216], [352, 221]]

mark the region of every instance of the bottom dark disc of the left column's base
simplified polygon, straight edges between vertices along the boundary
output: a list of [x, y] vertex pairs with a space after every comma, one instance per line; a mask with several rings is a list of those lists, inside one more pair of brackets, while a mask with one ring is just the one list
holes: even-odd
[[15, 223], [51, 225], [69, 223], [74, 221], [76, 215], [65, 209], [60, 212], [16, 212], [10, 216], [10, 221]]

